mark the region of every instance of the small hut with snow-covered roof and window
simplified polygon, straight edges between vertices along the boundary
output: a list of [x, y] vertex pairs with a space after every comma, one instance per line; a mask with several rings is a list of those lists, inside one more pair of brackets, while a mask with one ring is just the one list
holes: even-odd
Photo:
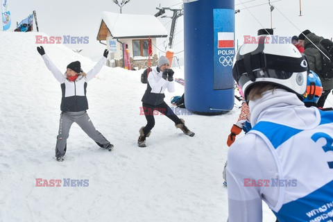
[[127, 44], [132, 67], [142, 69], [147, 65], [149, 37], [154, 62], [157, 60], [156, 39], [167, 35], [167, 29], [153, 15], [103, 12], [97, 40], [106, 41], [110, 50], [109, 61], [114, 60], [117, 67], [123, 67], [123, 57], [126, 58], [123, 46]]

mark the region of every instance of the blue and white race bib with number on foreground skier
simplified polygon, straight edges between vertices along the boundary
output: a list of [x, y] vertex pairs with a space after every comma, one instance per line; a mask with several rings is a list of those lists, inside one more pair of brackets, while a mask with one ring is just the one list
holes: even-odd
[[280, 222], [333, 221], [333, 112], [320, 113], [316, 128], [260, 121], [249, 132], [264, 139], [278, 165], [278, 205], [268, 206]]

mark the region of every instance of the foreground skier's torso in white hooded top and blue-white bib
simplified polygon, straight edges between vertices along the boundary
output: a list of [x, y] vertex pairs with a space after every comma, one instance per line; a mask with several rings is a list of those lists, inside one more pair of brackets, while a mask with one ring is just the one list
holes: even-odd
[[229, 222], [333, 222], [333, 112], [275, 89], [251, 105], [254, 125], [228, 153]]

